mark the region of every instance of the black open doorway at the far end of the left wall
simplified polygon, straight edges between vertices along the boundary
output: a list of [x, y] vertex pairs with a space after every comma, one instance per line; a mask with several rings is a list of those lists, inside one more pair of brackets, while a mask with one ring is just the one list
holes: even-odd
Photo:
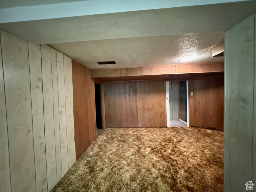
[[96, 126], [97, 126], [97, 129], [102, 129], [100, 85], [95, 83], [94, 88], [95, 88]]

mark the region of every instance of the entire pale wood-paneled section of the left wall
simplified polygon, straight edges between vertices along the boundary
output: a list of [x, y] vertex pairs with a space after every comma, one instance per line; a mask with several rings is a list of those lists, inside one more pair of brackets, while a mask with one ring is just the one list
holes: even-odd
[[71, 59], [3, 30], [0, 40], [0, 191], [50, 191], [76, 161]]

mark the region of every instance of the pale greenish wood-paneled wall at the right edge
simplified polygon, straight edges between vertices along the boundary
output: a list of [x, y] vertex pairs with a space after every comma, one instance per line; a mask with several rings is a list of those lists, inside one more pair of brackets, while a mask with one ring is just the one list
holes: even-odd
[[256, 183], [255, 14], [225, 33], [224, 191], [227, 192], [246, 191], [246, 183]]

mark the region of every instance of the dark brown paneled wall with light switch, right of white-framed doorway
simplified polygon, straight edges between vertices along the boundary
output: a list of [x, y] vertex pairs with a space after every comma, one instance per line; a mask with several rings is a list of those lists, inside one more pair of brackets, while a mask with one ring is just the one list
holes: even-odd
[[223, 131], [224, 77], [190, 80], [188, 86], [189, 125]]

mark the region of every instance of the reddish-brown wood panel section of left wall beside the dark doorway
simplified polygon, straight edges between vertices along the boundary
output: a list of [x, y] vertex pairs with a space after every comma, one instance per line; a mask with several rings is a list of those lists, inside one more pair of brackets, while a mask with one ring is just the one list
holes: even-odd
[[72, 60], [76, 159], [96, 137], [94, 81], [90, 69]]

